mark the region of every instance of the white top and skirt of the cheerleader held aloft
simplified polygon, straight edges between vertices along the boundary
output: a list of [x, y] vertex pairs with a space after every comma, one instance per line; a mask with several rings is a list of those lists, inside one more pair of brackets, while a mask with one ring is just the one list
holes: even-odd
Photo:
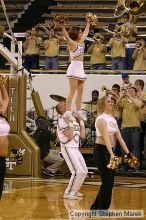
[[75, 78], [78, 80], [86, 80], [86, 75], [84, 71], [83, 61], [75, 60], [76, 58], [84, 54], [84, 45], [77, 43], [77, 48], [74, 51], [70, 51], [71, 63], [67, 69], [67, 77]]

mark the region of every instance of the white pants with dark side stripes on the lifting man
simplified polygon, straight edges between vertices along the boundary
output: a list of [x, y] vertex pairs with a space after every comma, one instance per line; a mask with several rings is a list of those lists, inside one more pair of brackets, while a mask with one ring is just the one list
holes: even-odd
[[77, 193], [88, 173], [88, 169], [79, 148], [74, 147], [61, 147], [61, 153], [67, 163], [67, 166], [71, 172], [71, 178], [69, 184], [65, 190], [65, 194], [70, 192]]

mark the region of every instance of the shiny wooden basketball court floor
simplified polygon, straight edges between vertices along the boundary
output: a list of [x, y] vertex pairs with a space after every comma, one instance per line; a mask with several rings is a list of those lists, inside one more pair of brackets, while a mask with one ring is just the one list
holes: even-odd
[[[99, 189], [98, 176], [87, 178], [81, 188], [84, 198], [62, 199], [68, 178], [6, 178], [0, 203], [0, 220], [91, 219], [69, 216], [70, 210], [89, 210]], [[110, 210], [144, 210], [146, 219], [146, 180], [116, 177]], [[108, 219], [108, 218], [92, 218]], [[123, 219], [123, 218], [110, 218]], [[125, 217], [124, 219], [130, 219]]]

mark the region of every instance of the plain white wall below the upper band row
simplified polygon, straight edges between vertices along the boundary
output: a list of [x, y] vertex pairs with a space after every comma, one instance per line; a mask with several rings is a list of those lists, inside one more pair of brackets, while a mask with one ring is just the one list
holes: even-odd
[[[35, 77], [33, 77], [32, 87], [35, 89], [35, 91], [39, 92], [44, 109], [50, 109], [51, 107], [56, 106], [58, 103], [50, 98], [51, 94], [67, 97], [69, 87], [68, 79], [66, 78], [65, 74], [33, 74], [33, 76]], [[143, 79], [146, 84], [146, 75], [130, 75], [130, 81], [132, 83], [134, 83], [136, 79]], [[99, 91], [101, 97], [104, 95], [104, 93], [101, 91], [101, 87], [105, 85], [108, 89], [111, 89], [111, 86], [115, 83], [122, 86], [121, 75], [87, 74], [83, 101], [91, 100], [91, 92], [94, 89]], [[29, 102], [27, 109], [32, 106], [33, 104]], [[75, 108], [74, 102], [73, 108]], [[50, 112], [51, 111], [52, 110], [50, 110]]]

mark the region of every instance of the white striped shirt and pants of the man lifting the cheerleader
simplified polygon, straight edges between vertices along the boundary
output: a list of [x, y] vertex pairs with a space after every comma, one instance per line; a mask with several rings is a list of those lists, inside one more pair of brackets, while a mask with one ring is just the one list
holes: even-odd
[[74, 133], [71, 140], [69, 140], [63, 133], [68, 127], [68, 122], [63, 117], [59, 118], [57, 134], [60, 140], [61, 153], [72, 174], [65, 190], [65, 194], [77, 193], [88, 173], [85, 160], [79, 151], [80, 126], [76, 121], [73, 122]]

